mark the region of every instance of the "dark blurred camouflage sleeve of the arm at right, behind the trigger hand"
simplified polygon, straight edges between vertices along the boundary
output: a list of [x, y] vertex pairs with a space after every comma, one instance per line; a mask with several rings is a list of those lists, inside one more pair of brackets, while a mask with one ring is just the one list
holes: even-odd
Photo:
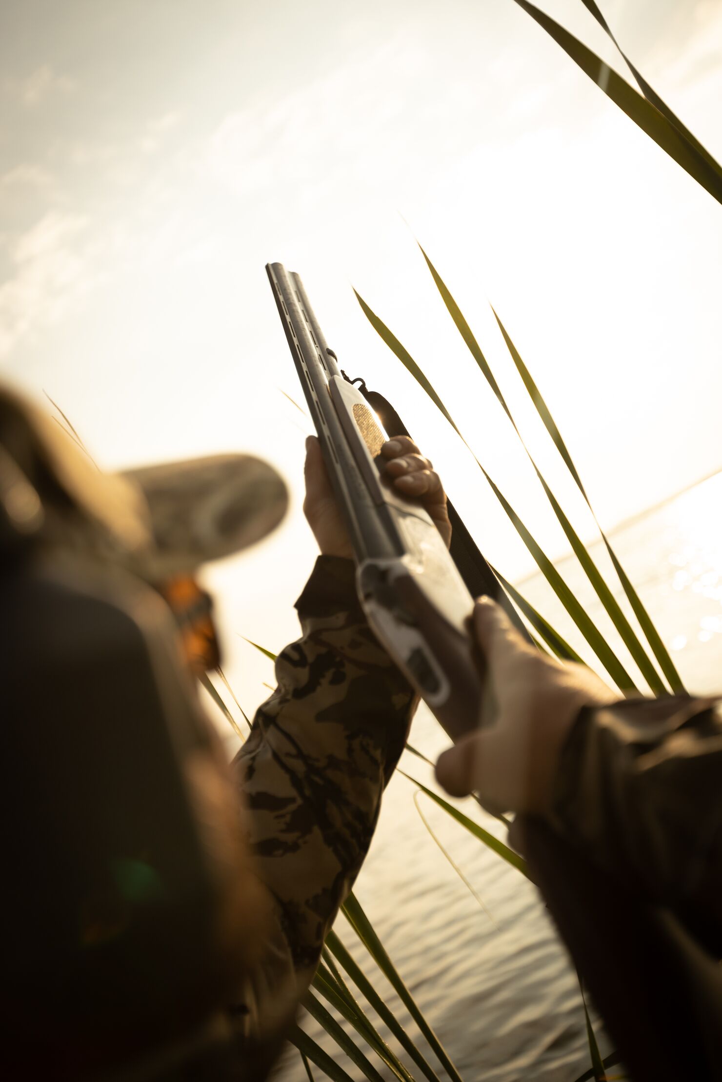
[[582, 710], [527, 865], [634, 1082], [722, 1082], [722, 713]]

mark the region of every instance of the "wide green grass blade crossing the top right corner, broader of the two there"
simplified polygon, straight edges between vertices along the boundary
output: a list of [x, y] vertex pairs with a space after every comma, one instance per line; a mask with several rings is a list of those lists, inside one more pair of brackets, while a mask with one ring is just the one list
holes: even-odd
[[[553, 18], [535, 8], [528, 0], [514, 0], [531, 18], [561, 45], [581, 70], [592, 79], [630, 120], [646, 132], [649, 138], [684, 169], [690, 176], [709, 192], [713, 199], [722, 202], [722, 169], [707, 151], [697, 149], [695, 140], [690, 142], [665, 113], [648, 102], [630, 87], [604, 61], [601, 61], [587, 45], [583, 45]], [[686, 132], [686, 129], [684, 129]]]

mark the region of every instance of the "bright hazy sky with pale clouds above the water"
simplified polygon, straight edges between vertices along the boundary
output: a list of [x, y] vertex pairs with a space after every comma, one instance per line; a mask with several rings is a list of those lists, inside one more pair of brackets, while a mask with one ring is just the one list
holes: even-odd
[[[542, 6], [628, 75], [580, 0]], [[600, 6], [721, 158], [722, 2]], [[342, 367], [394, 403], [508, 578], [526, 550], [353, 294], [561, 555], [417, 239], [582, 536], [490, 304], [606, 528], [722, 467], [722, 209], [513, 0], [2, 0], [0, 71], [0, 378], [50, 395], [105, 469], [240, 450], [290, 486], [277, 533], [207, 572], [239, 678], [261, 678], [241, 635], [296, 634], [314, 555], [267, 261], [302, 275]]]

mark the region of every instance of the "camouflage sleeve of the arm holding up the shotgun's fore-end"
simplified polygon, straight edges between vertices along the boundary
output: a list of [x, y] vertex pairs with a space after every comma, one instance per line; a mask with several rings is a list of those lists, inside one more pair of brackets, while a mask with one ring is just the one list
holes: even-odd
[[415, 699], [377, 643], [350, 560], [320, 556], [297, 602], [303, 635], [234, 761], [258, 874], [273, 898], [265, 958], [239, 1005], [250, 1035], [292, 1015], [362, 866]]

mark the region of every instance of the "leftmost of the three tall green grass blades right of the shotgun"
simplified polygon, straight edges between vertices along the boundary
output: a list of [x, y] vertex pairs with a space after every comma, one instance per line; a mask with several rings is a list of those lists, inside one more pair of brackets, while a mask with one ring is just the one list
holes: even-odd
[[[404, 348], [398, 339], [394, 334], [392, 334], [392, 332], [381, 321], [381, 319], [379, 319], [379, 317], [373, 312], [371, 312], [366, 302], [363, 301], [360, 296], [358, 296], [358, 293], [356, 293], [356, 296], [358, 299], [358, 303], [360, 304], [364, 313], [367, 315], [372, 327], [377, 330], [377, 332], [383, 339], [386, 345], [389, 345], [390, 348], [396, 354], [398, 359], [408, 369], [411, 375], [413, 375], [413, 378], [417, 379], [417, 381], [421, 384], [424, 391], [426, 391], [426, 394], [429, 394], [432, 401], [434, 401], [435, 405], [438, 407], [438, 409], [442, 411], [442, 413], [447, 419], [449, 424], [454, 427], [455, 432], [457, 432], [458, 435], [461, 436], [461, 438], [463, 439], [461, 432], [455, 424], [451, 415], [449, 414], [448, 410], [442, 403], [441, 398], [438, 397], [432, 385], [429, 383], [429, 380], [422, 373], [421, 373], [422, 378], [419, 379], [419, 375], [417, 373], [420, 373], [421, 370], [419, 369], [418, 365], [411, 359], [408, 352]], [[465, 439], [464, 444], [467, 444]], [[469, 447], [469, 444], [467, 444], [467, 447]], [[607, 643], [604, 641], [600, 632], [596, 630], [593, 622], [587, 616], [583, 608], [581, 607], [575, 595], [572, 593], [569, 588], [566, 585], [561, 575], [552, 564], [552, 562], [549, 559], [549, 557], [546, 555], [542, 549], [534, 540], [528, 529], [524, 526], [523, 522], [521, 520], [516, 512], [512, 509], [509, 501], [501, 494], [501, 492], [494, 484], [494, 481], [491, 480], [491, 478], [489, 477], [488, 473], [481, 464], [478, 459], [475, 459], [475, 461], [478, 467], [481, 469], [482, 473], [486, 477], [487, 481], [491, 486], [493, 491], [495, 492], [497, 499], [504, 509], [507, 515], [514, 525], [517, 533], [520, 535], [525, 545], [534, 556], [537, 566], [542, 571], [544, 578], [547, 579], [554, 593], [564, 605], [565, 609], [567, 610], [574, 622], [577, 624], [581, 634], [585, 636], [591, 648], [594, 650], [594, 654], [600, 659], [600, 661], [608, 672], [612, 679], [615, 681], [617, 686], [621, 688], [621, 690], [625, 692], [636, 691], [636, 687], [634, 686], [631, 676], [623, 668], [621, 661], [619, 660], [619, 658], [617, 658], [614, 650], [607, 645]]]

